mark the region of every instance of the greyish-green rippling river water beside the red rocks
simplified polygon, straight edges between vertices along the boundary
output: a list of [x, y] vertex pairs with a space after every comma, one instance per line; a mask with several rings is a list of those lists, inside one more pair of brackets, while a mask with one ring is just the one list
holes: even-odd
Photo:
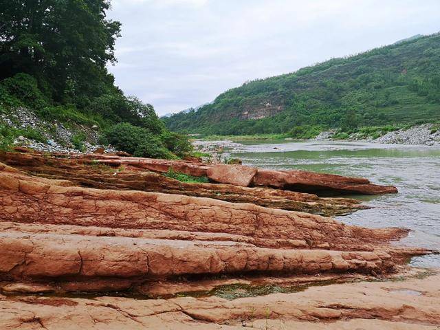
[[[242, 142], [232, 156], [261, 168], [313, 170], [366, 177], [397, 186], [398, 194], [351, 196], [373, 208], [343, 217], [365, 227], [411, 229], [399, 244], [440, 250], [440, 148], [362, 142]], [[417, 257], [419, 267], [440, 267], [440, 256]]]

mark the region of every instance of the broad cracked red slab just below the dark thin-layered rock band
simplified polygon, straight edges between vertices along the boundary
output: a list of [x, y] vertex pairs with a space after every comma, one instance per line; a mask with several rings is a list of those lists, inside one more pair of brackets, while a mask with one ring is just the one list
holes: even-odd
[[[2, 220], [97, 225], [109, 228], [188, 230], [241, 234], [262, 247], [369, 249], [406, 234], [398, 228], [366, 229], [315, 214], [247, 203], [155, 192], [58, 186], [0, 166]], [[63, 181], [65, 185], [65, 181]], [[371, 248], [370, 248], [371, 249]]]

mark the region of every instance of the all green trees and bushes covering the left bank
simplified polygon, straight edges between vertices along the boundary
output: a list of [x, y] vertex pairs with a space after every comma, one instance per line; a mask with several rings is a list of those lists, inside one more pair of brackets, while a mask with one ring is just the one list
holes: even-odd
[[[171, 133], [151, 104], [125, 96], [106, 65], [115, 63], [121, 24], [107, 19], [110, 1], [0, 2], [0, 113], [24, 107], [69, 128], [96, 126], [103, 142], [142, 157], [191, 153], [186, 135]], [[0, 148], [41, 132], [0, 122]], [[78, 131], [72, 144], [84, 148]]]

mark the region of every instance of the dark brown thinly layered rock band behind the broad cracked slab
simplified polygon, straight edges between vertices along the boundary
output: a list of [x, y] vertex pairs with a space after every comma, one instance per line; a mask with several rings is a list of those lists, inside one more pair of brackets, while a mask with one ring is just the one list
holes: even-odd
[[232, 184], [184, 183], [138, 168], [108, 168], [65, 157], [44, 157], [38, 153], [0, 153], [0, 161], [32, 175], [69, 179], [78, 186], [100, 189], [132, 189], [194, 197], [210, 197], [235, 203], [296, 210], [327, 216], [367, 208], [356, 199], [320, 198], [302, 192], [270, 188], [248, 188]]

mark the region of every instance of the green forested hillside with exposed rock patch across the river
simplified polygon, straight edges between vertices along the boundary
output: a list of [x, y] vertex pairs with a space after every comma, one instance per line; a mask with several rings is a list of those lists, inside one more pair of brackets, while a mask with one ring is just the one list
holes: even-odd
[[254, 80], [198, 111], [164, 118], [173, 131], [223, 135], [438, 120], [440, 34]]

